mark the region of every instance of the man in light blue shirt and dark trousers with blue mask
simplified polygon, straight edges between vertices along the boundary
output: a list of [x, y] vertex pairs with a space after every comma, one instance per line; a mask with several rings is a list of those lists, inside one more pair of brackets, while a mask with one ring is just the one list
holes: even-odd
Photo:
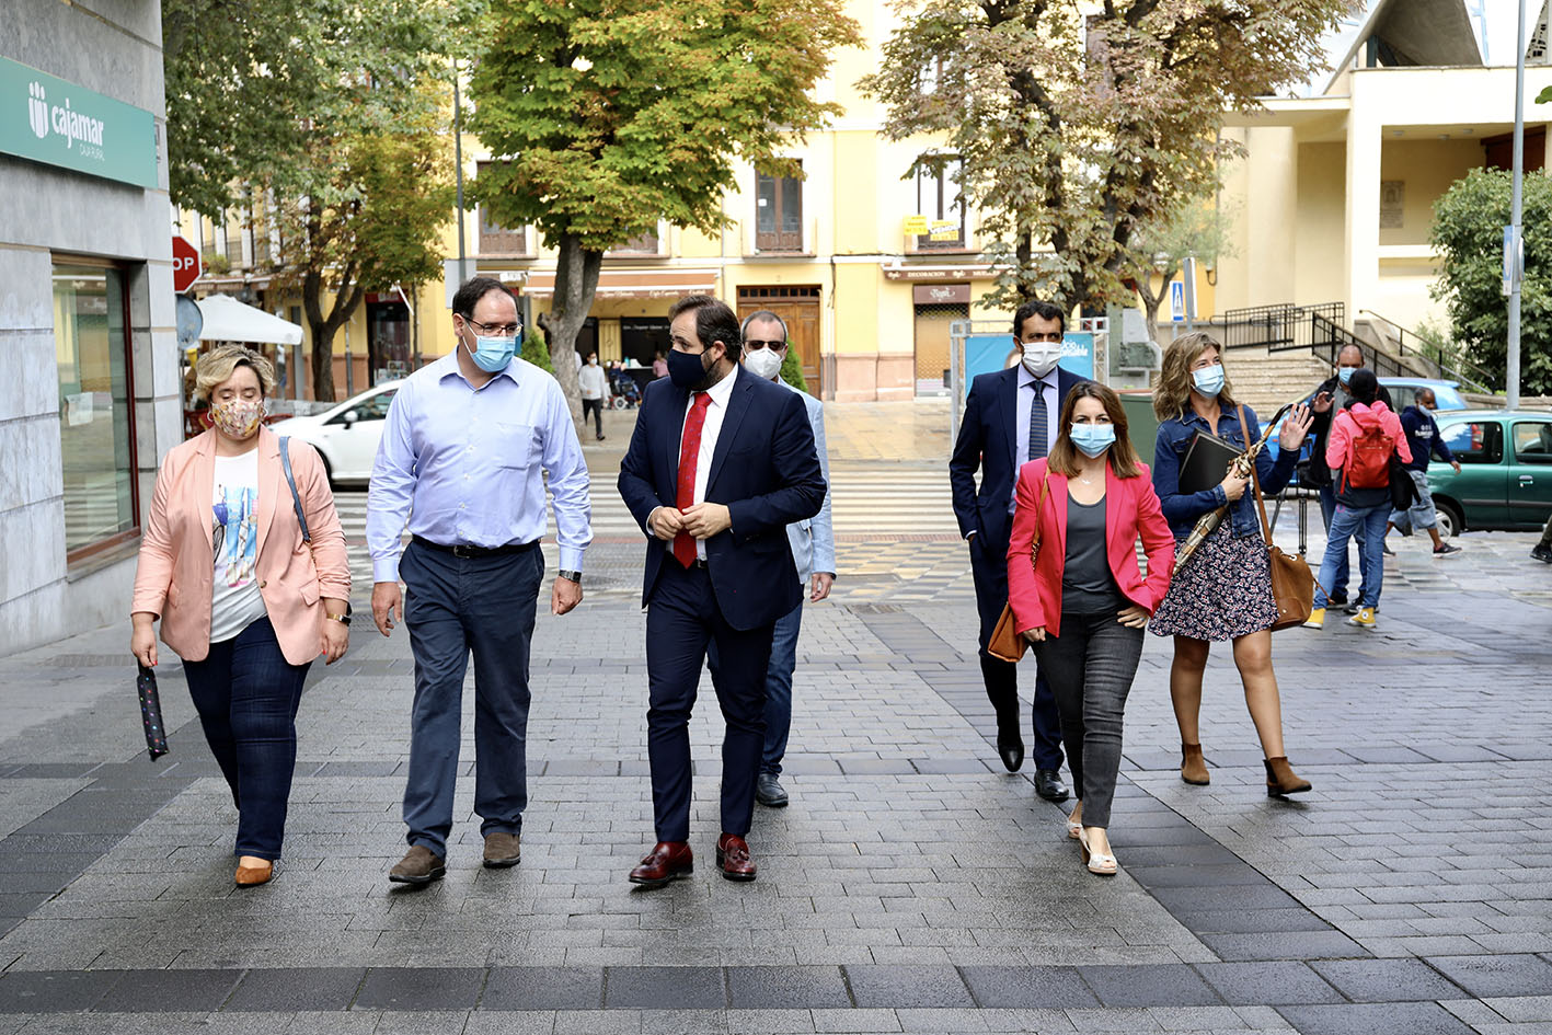
[[[484, 864], [517, 864], [546, 475], [560, 546], [553, 613], [582, 601], [582, 551], [593, 540], [571, 410], [554, 377], [515, 358], [521, 326], [512, 295], [489, 276], [467, 281], [453, 296], [453, 332], [455, 352], [394, 394], [366, 500], [372, 619], [388, 636], [402, 616], [414, 653], [404, 791], [410, 852], [388, 872], [414, 886], [445, 872], [470, 653]], [[400, 559], [407, 520], [411, 543]]]

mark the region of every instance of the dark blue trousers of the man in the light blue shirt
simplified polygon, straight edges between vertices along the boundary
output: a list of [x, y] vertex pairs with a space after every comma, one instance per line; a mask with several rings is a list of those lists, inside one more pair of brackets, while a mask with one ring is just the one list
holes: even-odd
[[447, 855], [462, 737], [464, 673], [475, 659], [475, 813], [480, 833], [518, 833], [528, 805], [528, 649], [545, 576], [539, 545], [497, 557], [455, 557], [410, 543], [399, 563], [404, 624], [414, 653], [410, 844]]

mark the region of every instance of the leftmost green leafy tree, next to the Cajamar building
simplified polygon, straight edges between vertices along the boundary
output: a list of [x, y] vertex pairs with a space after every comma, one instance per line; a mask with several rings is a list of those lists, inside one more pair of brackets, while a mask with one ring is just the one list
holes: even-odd
[[441, 276], [449, 53], [470, 2], [163, 6], [172, 200], [214, 219], [247, 200], [256, 236], [278, 236], [268, 272], [301, 295], [318, 399], [365, 293]]

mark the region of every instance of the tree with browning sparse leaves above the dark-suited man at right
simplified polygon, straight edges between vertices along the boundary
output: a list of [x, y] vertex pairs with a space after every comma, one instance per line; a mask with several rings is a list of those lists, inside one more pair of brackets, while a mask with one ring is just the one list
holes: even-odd
[[1322, 31], [1352, 9], [900, 0], [861, 85], [888, 107], [886, 137], [928, 135], [964, 161], [961, 192], [996, 270], [987, 304], [1121, 301], [1133, 234], [1201, 197], [1235, 154], [1215, 135], [1223, 113], [1319, 68]]

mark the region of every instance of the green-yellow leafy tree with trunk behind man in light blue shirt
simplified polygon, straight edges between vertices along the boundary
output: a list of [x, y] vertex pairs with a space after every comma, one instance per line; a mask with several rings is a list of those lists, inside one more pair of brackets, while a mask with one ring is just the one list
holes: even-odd
[[[604, 251], [658, 220], [725, 225], [734, 161], [799, 175], [778, 151], [840, 112], [813, 87], [860, 42], [841, 0], [492, 0], [469, 130], [492, 154], [475, 200], [559, 251], [546, 326], [576, 348]], [[571, 363], [556, 377], [580, 421]]]

